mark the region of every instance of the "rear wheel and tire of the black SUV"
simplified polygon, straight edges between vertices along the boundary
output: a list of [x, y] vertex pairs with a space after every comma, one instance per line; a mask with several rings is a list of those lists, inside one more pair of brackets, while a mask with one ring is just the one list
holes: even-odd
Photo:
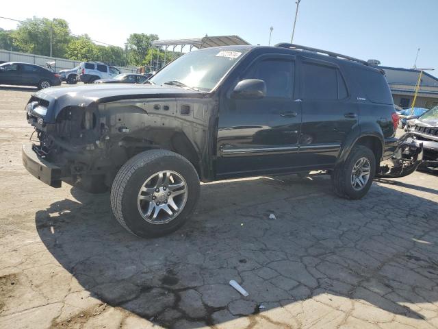
[[[364, 167], [361, 171], [360, 164]], [[368, 175], [365, 172], [368, 171]], [[350, 151], [344, 164], [335, 168], [331, 175], [333, 190], [345, 199], [361, 199], [370, 190], [376, 173], [374, 152], [363, 145], [356, 145]], [[357, 179], [356, 179], [357, 178]]]

